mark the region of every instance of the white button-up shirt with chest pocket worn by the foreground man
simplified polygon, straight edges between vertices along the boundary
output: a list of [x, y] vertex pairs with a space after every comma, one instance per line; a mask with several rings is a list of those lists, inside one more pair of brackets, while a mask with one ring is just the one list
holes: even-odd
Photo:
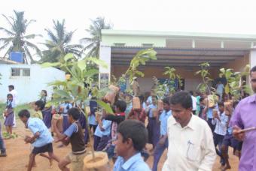
[[171, 115], [167, 124], [168, 153], [162, 171], [212, 171], [216, 151], [212, 130], [203, 119], [192, 115], [185, 127]]

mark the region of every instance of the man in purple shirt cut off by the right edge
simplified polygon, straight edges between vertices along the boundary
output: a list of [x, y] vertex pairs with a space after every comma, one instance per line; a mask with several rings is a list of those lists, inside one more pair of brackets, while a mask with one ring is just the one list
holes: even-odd
[[239, 170], [256, 170], [256, 130], [241, 132], [241, 129], [256, 127], [256, 66], [251, 68], [251, 89], [254, 95], [242, 99], [236, 107], [230, 120], [233, 127], [233, 136], [242, 144], [242, 156], [240, 158]]

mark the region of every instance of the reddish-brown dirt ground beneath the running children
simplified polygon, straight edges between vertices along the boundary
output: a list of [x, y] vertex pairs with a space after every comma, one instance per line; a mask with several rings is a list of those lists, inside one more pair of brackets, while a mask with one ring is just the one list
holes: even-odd
[[[5, 128], [2, 127], [2, 130], [5, 131]], [[24, 128], [23, 123], [18, 121], [17, 128], [14, 129], [14, 132], [19, 134], [20, 136], [16, 139], [8, 139], [5, 140], [5, 145], [7, 148], [8, 157], [0, 157], [0, 171], [23, 171], [26, 170], [26, 164], [29, 161], [29, 153], [31, 150], [31, 145], [25, 144], [23, 141], [23, 137], [25, 135], [29, 135], [29, 131]], [[53, 151], [54, 153], [62, 158], [65, 157], [66, 154], [71, 151], [71, 147], [63, 147], [63, 148], [57, 148], [58, 143], [53, 143]], [[151, 145], [148, 145], [148, 148], [151, 148]], [[232, 169], [229, 170], [238, 170], [238, 157], [234, 156], [232, 154], [233, 150], [230, 151], [230, 164]], [[48, 171], [48, 170], [59, 170], [57, 163], [53, 161], [53, 166], [49, 166], [49, 162], [46, 158], [37, 156], [36, 157], [36, 163], [37, 166], [33, 168], [34, 171]], [[166, 151], [164, 152], [163, 156], [160, 159], [160, 163], [158, 165], [158, 170], [161, 170], [163, 166], [163, 162], [166, 160]], [[220, 163], [219, 163], [219, 157], [216, 159], [215, 165], [213, 167], [213, 170], [221, 170], [219, 169]], [[152, 167], [153, 164], [153, 157], [149, 157], [147, 161], [148, 165]]]

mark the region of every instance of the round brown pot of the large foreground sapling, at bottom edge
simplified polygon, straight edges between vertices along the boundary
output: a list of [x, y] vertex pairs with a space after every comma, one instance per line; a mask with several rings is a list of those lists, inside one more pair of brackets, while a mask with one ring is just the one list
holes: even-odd
[[94, 160], [93, 154], [88, 154], [84, 157], [84, 171], [110, 171], [108, 154], [102, 151], [95, 151], [94, 155]]

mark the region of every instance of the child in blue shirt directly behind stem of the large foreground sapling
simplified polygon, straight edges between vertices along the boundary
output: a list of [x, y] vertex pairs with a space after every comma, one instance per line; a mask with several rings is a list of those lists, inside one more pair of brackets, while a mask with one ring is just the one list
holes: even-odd
[[95, 112], [98, 108], [98, 104], [97, 102], [95, 101], [96, 98], [92, 98], [92, 101], [90, 101], [90, 113], [88, 114], [88, 121], [89, 121], [89, 126], [90, 126], [90, 130], [93, 128], [93, 133], [95, 132], [96, 130], [96, 127], [97, 127], [97, 121], [96, 121], [96, 115], [95, 115]]

